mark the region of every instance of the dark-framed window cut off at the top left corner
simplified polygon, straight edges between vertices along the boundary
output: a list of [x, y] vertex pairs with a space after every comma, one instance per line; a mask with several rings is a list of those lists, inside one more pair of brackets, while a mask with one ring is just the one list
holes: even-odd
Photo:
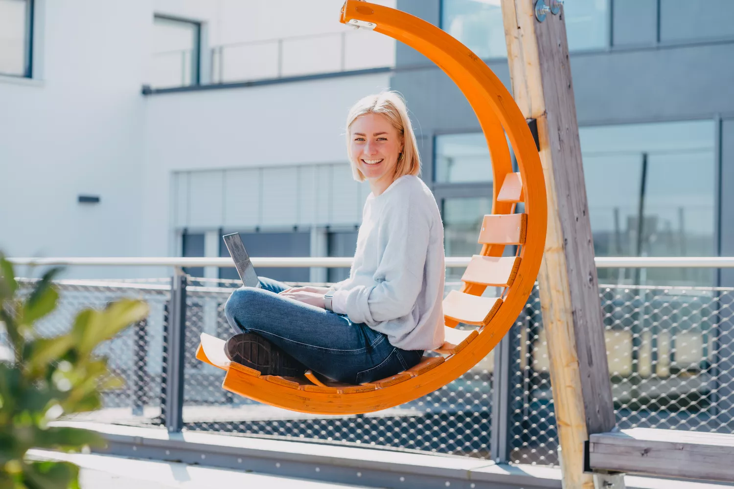
[[32, 20], [32, 0], [0, 0], [0, 75], [31, 78]]

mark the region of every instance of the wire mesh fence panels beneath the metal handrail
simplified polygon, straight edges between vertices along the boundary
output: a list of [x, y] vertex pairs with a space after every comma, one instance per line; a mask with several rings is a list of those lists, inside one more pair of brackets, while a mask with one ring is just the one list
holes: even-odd
[[[537, 288], [504, 340], [509, 350], [504, 358], [490, 353], [454, 382], [396, 408], [321, 416], [273, 408], [223, 390], [224, 372], [197, 361], [195, 351], [201, 332], [222, 339], [234, 333], [224, 304], [237, 282], [197, 279], [188, 284], [182, 328], [186, 430], [558, 463], [548, 342]], [[59, 308], [39, 324], [42, 334], [65, 331], [80, 309], [103, 307], [115, 298], [143, 298], [151, 308], [148, 320], [102, 345], [100, 353], [109, 356], [113, 371], [126, 382], [106, 392], [103, 410], [85, 419], [163, 423], [166, 372], [175, 367], [164, 348], [164, 331], [175, 328], [168, 324], [169, 287], [59, 282]], [[620, 427], [734, 431], [734, 289], [602, 286], [600, 304]], [[501, 370], [508, 372], [504, 399], [494, 391], [497, 361], [507, 366]], [[493, 410], [493, 402], [506, 402], [507, 436], [501, 443], [492, 436], [493, 421], [495, 427], [498, 422], [493, 416], [503, 410]]]

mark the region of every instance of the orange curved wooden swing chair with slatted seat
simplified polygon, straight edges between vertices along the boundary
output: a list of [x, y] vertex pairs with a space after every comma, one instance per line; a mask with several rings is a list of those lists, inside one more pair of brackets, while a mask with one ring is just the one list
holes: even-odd
[[[492, 161], [492, 214], [479, 232], [482, 251], [462, 276], [461, 290], [443, 301], [446, 342], [415, 367], [362, 385], [319, 378], [282, 378], [230, 362], [221, 339], [202, 335], [197, 359], [225, 369], [222, 388], [252, 400], [291, 411], [360, 414], [418, 399], [458, 378], [498, 344], [526, 304], [537, 277], [548, 220], [545, 180], [538, 150], [523, 114], [499, 78], [465, 45], [430, 23], [389, 7], [347, 0], [341, 22], [373, 29], [415, 48], [454, 80], [474, 109]], [[507, 139], [515, 149], [520, 172], [512, 172]], [[524, 213], [515, 206], [524, 202]], [[517, 246], [515, 257], [503, 257], [505, 246]], [[504, 287], [498, 298], [482, 297], [486, 287]], [[479, 326], [455, 329], [458, 323]]]

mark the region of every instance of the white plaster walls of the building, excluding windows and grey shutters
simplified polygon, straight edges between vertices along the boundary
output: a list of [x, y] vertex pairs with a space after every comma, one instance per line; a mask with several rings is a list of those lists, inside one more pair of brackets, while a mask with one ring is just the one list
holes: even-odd
[[[230, 42], [243, 33], [278, 37], [341, 29], [341, 0], [36, 4], [37, 79], [0, 76], [0, 249], [10, 256], [175, 254], [172, 172], [344, 163], [346, 110], [388, 86], [383, 74], [140, 93], [154, 12], [199, 16], [215, 42]], [[81, 205], [79, 194], [98, 195], [101, 202]], [[74, 268], [67, 276], [167, 273]]]

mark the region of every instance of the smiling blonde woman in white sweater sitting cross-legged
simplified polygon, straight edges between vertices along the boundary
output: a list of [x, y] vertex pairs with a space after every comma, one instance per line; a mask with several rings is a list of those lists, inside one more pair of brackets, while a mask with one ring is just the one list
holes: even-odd
[[261, 278], [235, 290], [225, 315], [235, 331], [228, 357], [264, 375], [312, 369], [334, 380], [389, 377], [443, 344], [443, 224], [418, 178], [421, 161], [404, 100], [382, 92], [358, 101], [346, 120], [355, 180], [371, 194], [349, 279], [294, 287]]

